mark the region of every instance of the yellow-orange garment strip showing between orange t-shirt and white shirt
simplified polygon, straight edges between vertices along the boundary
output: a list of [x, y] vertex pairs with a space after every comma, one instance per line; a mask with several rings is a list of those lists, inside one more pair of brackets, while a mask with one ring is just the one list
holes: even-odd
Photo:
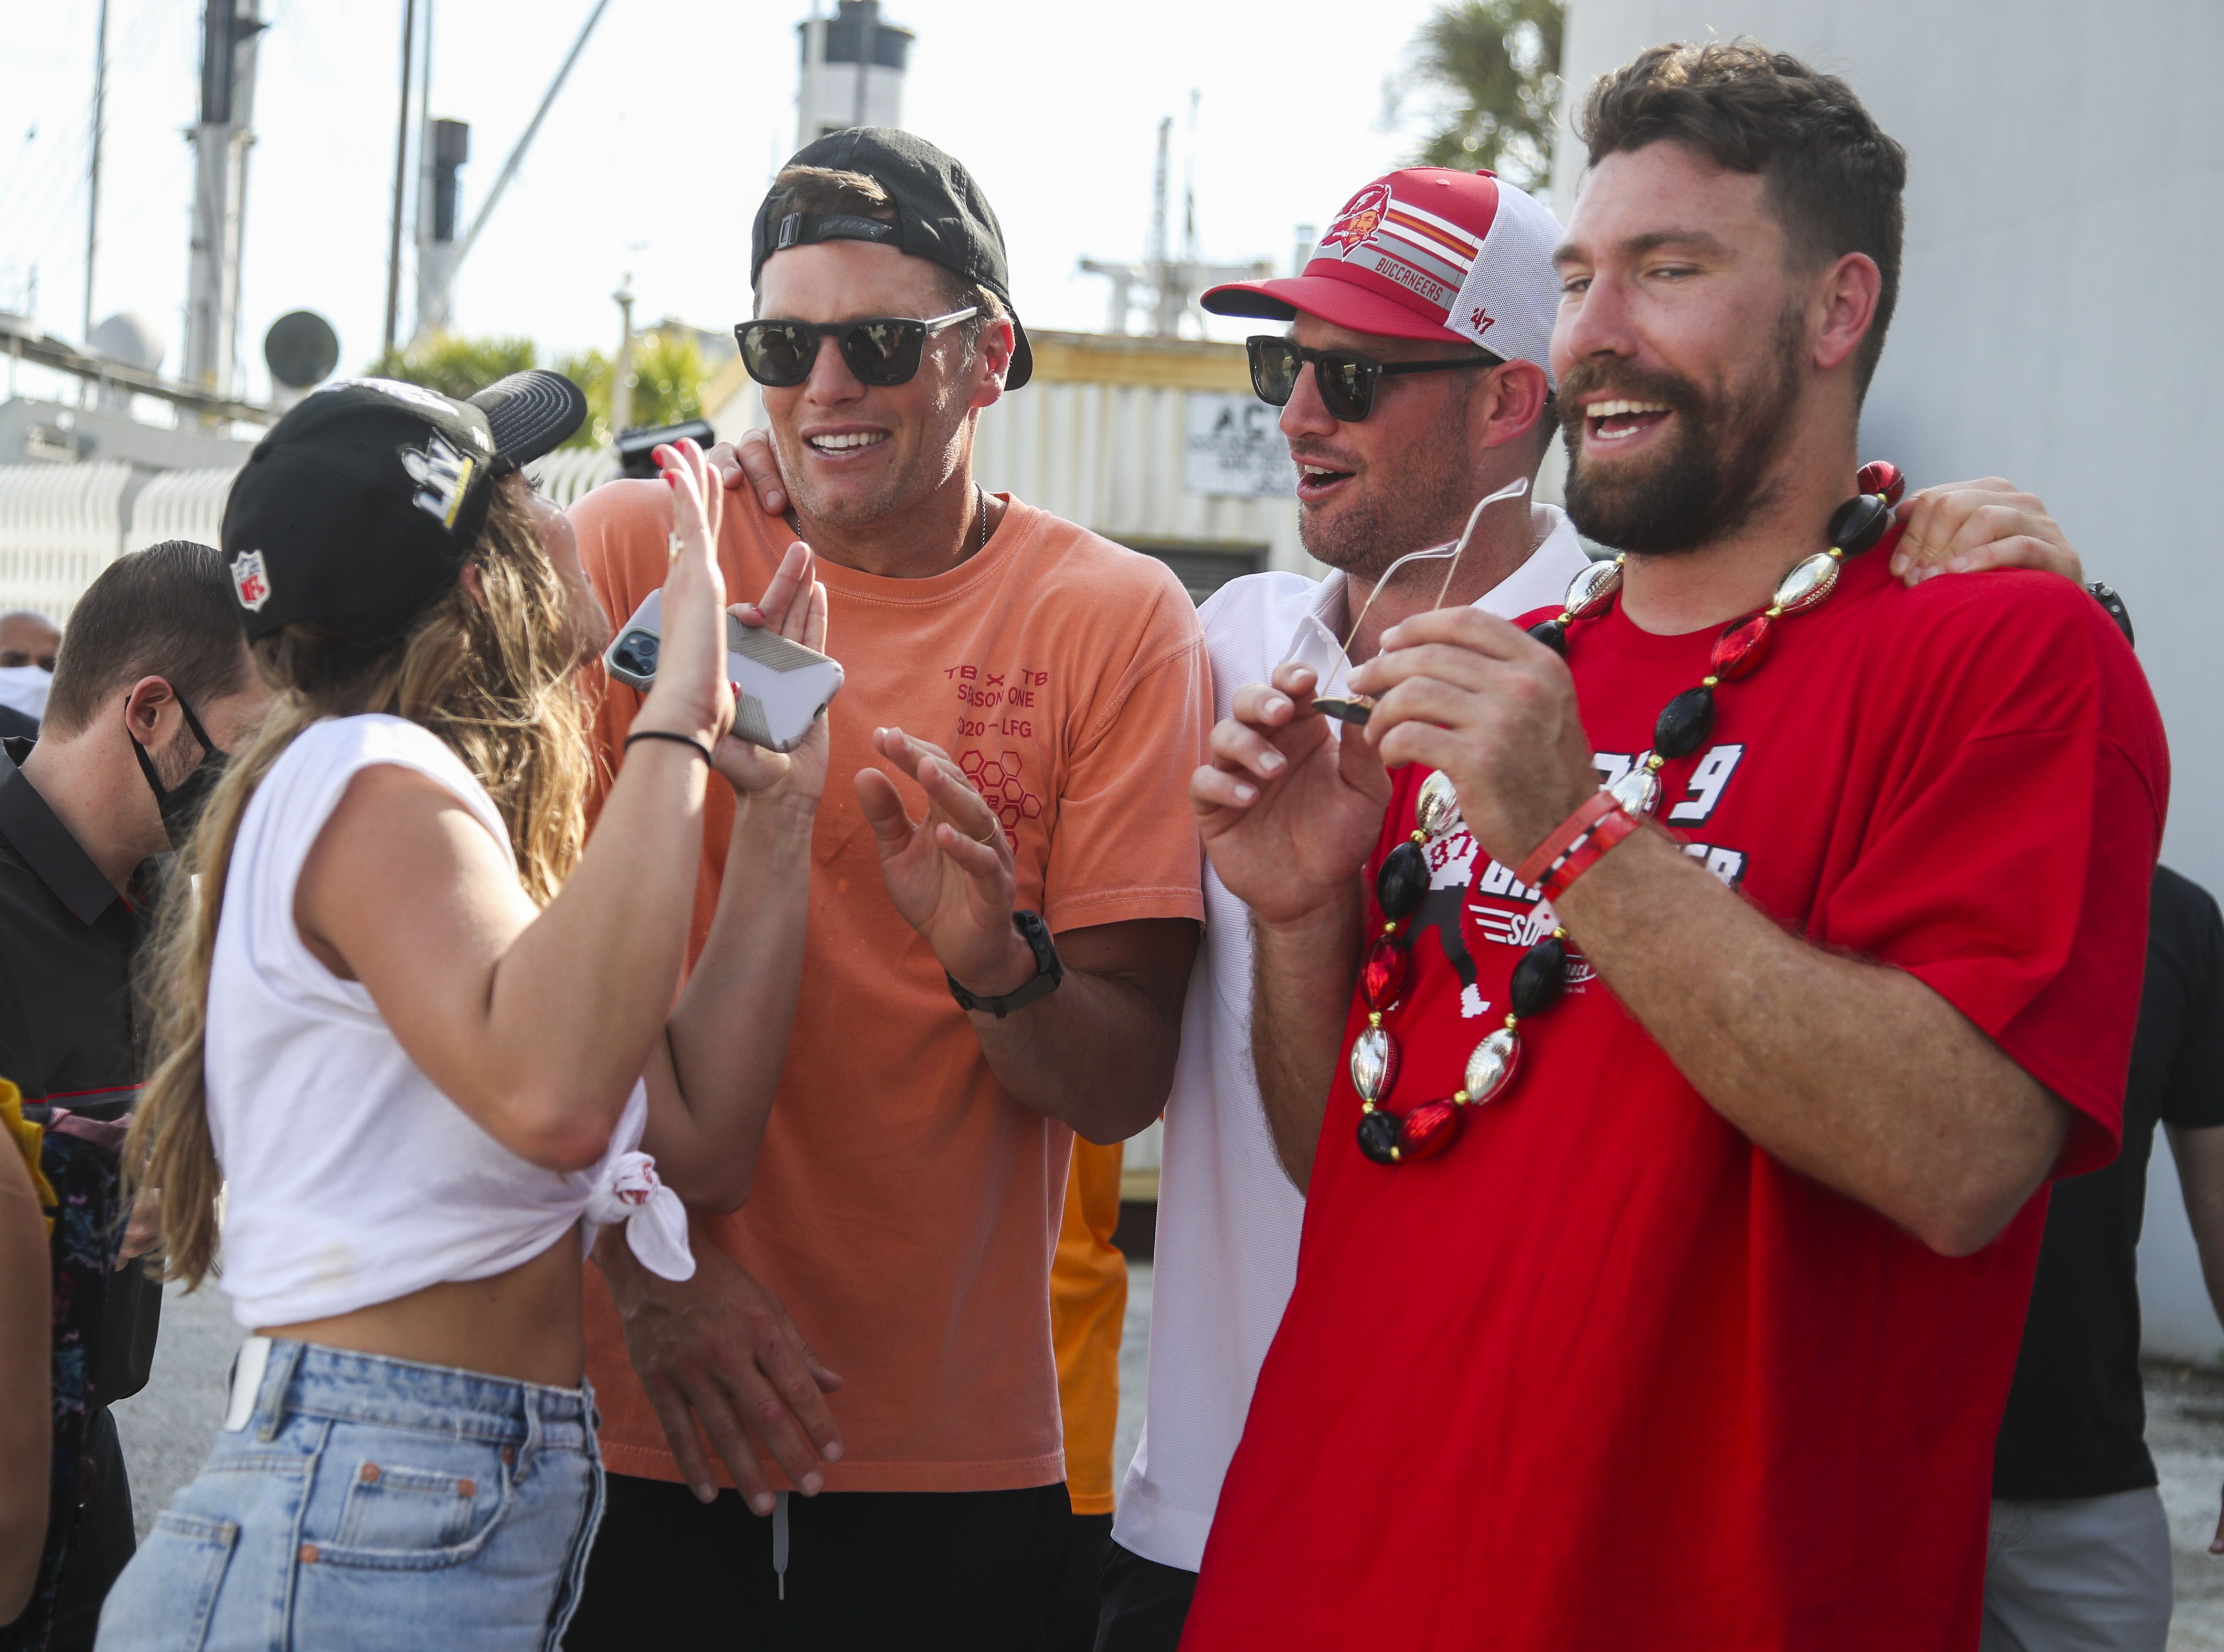
[[1074, 1138], [1065, 1223], [1050, 1263], [1050, 1336], [1059, 1350], [1065, 1490], [1074, 1514], [1112, 1512], [1112, 1436], [1119, 1434], [1119, 1336], [1128, 1323], [1128, 1258], [1119, 1227], [1119, 1143]]

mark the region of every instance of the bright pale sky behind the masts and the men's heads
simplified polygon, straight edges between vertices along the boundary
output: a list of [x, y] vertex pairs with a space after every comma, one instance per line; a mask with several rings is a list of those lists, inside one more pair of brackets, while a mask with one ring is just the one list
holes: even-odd
[[[492, 187], [592, 0], [436, 0], [434, 113], [471, 122], [465, 218]], [[85, 138], [96, 0], [7, 11], [0, 53], [0, 305], [38, 269], [38, 320], [76, 336], [85, 265]], [[400, 0], [265, 0], [269, 31], [249, 169], [242, 358], [318, 309], [342, 367], [378, 349], [394, 171]], [[749, 216], [794, 138], [807, 0], [652, 7], [612, 0], [569, 84], [458, 280], [465, 331], [552, 351], [616, 342], [620, 276], [638, 318], [725, 327], [747, 314]], [[1150, 222], [1156, 122], [1203, 93], [1197, 147], [1205, 258], [1288, 260], [1397, 165], [1390, 76], [1428, 0], [1281, 0], [1119, 9], [1043, 0], [890, 0], [914, 29], [905, 125], [981, 178], [1012, 242], [1014, 298], [1036, 327], [1099, 327], [1105, 287], [1074, 260], [1134, 258]], [[153, 318], [176, 371], [200, 4], [111, 0], [109, 120], [96, 318]], [[1176, 193], [1179, 211], [1179, 193]], [[409, 327], [407, 276], [403, 331]]]

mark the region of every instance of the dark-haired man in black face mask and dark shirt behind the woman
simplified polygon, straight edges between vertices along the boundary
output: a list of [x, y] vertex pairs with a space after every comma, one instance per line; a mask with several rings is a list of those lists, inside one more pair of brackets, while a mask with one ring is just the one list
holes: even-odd
[[[145, 1056], [133, 963], [158, 858], [191, 832], [265, 698], [222, 558], [173, 540], [93, 580], [40, 738], [0, 743], [0, 1076], [47, 1127], [42, 1165], [62, 1201], [53, 1512], [31, 1605], [0, 1628], [0, 1652], [89, 1648], [131, 1559], [131, 1483], [107, 1407], [145, 1385], [160, 1307], [160, 1290], [107, 1252]], [[138, 1223], [125, 1252], [151, 1245], [136, 1241]]]

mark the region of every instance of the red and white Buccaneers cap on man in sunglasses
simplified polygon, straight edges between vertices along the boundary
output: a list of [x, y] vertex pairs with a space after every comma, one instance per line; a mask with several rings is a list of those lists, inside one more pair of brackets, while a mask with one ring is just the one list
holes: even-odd
[[1199, 302], [1214, 316], [1303, 311], [1354, 334], [1452, 338], [1550, 378], [1557, 245], [1559, 220], [1503, 178], [1408, 167], [1343, 202], [1303, 276], [1230, 282]]

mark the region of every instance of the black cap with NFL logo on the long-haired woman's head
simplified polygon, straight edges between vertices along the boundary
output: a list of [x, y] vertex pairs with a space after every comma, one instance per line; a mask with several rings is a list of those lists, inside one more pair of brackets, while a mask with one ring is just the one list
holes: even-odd
[[296, 620], [365, 649], [394, 643], [456, 583], [494, 482], [587, 416], [532, 369], [458, 402], [391, 378], [305, 396], [256, 442], [225, 500], [222, 547], [247, 640]]

